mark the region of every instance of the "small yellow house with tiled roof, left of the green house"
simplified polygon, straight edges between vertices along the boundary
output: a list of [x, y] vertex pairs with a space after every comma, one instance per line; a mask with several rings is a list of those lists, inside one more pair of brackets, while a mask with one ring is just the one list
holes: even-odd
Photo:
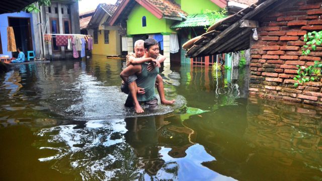
[[121, 37], [118, 33], [118, 28], [107, 23], [116, 8], [116, 5], [99, 4], [88, 23], [88, 34], [92, 35], [94, 39], [92, 54], [105, 56], [121, 55]]

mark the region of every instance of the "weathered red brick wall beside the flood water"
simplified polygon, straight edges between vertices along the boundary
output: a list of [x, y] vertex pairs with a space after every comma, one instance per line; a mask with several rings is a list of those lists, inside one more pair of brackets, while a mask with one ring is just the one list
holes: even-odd
[[322, 30], [322, 0], [294, 0], [260, 21], [259, 40], [251, 45], [250, 95], [322, 106], [322, 82], [294, 87], [296, 65], [313, 65], [322, 46], [302, 56], [303, 35]]

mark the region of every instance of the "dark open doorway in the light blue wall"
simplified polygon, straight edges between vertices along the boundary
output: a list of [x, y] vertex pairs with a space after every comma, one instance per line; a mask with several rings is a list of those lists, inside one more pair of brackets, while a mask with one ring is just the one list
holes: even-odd
[[[27, 55], [27, 51], [33, 50], [30, 18], [8, 17], [8, 23], [14, 29], [16, 46], [21, 47]], [[18, 52], [12, 52], [12, 56], [17, 57]]]

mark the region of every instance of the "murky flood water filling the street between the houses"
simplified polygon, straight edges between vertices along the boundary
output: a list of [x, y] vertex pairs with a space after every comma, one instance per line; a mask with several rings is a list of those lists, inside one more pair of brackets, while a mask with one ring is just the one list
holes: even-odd
[[249, 98], [246, 70], [178, 65], [162, 70], [176, 104], [136, 115], [122, 67], [94, 56], [0, 74], [0, 180], [322, 180], [322, 108]]

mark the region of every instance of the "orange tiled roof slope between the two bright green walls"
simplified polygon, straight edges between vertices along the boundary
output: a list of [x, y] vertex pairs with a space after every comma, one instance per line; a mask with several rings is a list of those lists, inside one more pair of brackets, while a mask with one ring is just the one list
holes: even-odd
[[181, 10], [180, 5], [178, 5], [173, 0], [146, 0], [148, 3], [153, 5], [155, 8], [160, 10], [166, 17], [178, 17], [182, 18], [179, 13], [187, 16], [187, 13]]

